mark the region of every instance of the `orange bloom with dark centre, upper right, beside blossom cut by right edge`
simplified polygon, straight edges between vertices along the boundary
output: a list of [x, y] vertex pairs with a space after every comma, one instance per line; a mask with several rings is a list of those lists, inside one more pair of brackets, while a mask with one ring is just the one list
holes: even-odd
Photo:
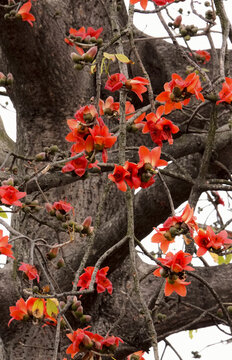
[[164, 84], [164, 90], [156, 97], [156, 100], [165, 102], [165, 114], [172, 110], [182, 109], [182, 105], [187, 105], [192, 95], [195, 95], [198, 100], [205, 101], [200, 93], [202, 87], [196, 73], [189, 74], [185, 80], [178, 74], [172, 74], [172, 81]]

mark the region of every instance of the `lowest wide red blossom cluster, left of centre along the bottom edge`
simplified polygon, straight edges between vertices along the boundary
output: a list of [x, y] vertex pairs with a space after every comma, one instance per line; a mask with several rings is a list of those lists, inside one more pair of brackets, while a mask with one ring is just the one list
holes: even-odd
[[99, 334], [93, 334], [86, 330], [90, 326], [84, 329], [77, 329], [73, 333], [67, 334], [67, 337], [72, 341], [72, 344], [66, 350], [67, 354], [70, 354], [73, 358], [78, 352], [88, 353], [90, 351], [96, 351], [100, 353], [111, 353], [119, 346], [119, 343], [123, 343], [123, 340], [117, 336], [107, 336], [104, 338]]

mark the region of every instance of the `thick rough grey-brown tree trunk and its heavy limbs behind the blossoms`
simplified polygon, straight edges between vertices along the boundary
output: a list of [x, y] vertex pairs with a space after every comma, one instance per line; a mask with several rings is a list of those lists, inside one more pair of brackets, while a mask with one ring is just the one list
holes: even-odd
[[[6, 0], [0, 0], [5, 5]], [[103, 6], [103, 3], [105, 6]], [[13, 73], [15, 82], [9, 90], [10, 97], [17, 111], [17, 152], [26, 157], [34, 156], [41, 152], [43, 147], [57, 144], [62, 150], [68, 150], [65, 136], [68, 132], [66, 119], [73, 117], [74, 112], [80, 106], [88, 104], [92, 96], [95, 96], [95, 78], [87, 70], [76, 72], [70, 59], [70, 48], [65, 44], [64, 37], [70, 27], [93, 26], [95, 29], [103, 26], [104, 40], [112, 36], [108, 5], [111, 1], [82, 1], [82, 0], [39, 0], [33, 3], [33, 14], [36, 22], [33, 28], [20, 20], [4, 20], [4, 9], [0, 8], [1, 29], [1, 71]], [[120, 10], [119, 18], [121, 25], [126, 24], [127, 15], [124, 7]], [[163, 83], [170, 79], [172, 72], [182, 72], [183, 60], [176, 54], [175, 48], [163, 41], [147, 40], [138, 42], [147, 72], [151, 74], [154, 92], [158, 93], [163, 88]], [[131, 67], [131, 73], [138, 75], [137, 67]], [[223, 154], [231, 148], [231, 133], [229, 127], [218, 134], [215, 152], [218, 159], [229, 170], [232, 169], [232, 159], [225, 158]], [[145, 140], [144, 140], [145, 139]], [[130, 146], [139, 146], [146, 141], [151, 145], [148, 137], [131, 135], [128, 140]], [[201, 156], [204, 150], [206, 136], [204, 134], [193, 135], [181, 134], [174, 145], [165, 148], [186, 169], [194, 179], [197, 177]], [[131, 152], [131, 160], [135, 158]], [[110, 161], [117, 161], [110, 156]], [[176, 165], [168, 166], [169, 171], [177, 172]], [[220, 173], [219, 173], [220, 170]], [[19, 164], [19, 176], [30, 173], [28, 169]], [[225, 177], [225, 173], [216, 166], [211, 167], [212, 177]], [[168, 187], [173, 196], [175, 206], [188, 199], [191, 191], [191, 182], [178, 180], [175, 177], [165, 177]], [[90, 175], [85, 180], [76, 181], [71, 175], [61, 175], [59, 172], [49, 172], [44, 178], [39, 179], [44, 190], [49, 190], [47, 196], [50, 201], [58, 201], [67, 198], [67, 201], [75, 205], [78, 221], [83, 221], [88, 215], [95, 218], [102, 193], [106, 187], [107, 175]], [[38, 192], [35, 183], [31, 182], [26, 189], [29, 196]], [[112, 187], [104, 204], [101, 215], [101, 227], [97, 232], [88, 265], [94, 265], [97, 259], [105, 253], [110, 246], [117, 243], [126, 234], [126, 210], [124, 197], [116, 187]], [[42, 211], [41, 211], [42, 214]], [[162, 184], [157, 180], [152, 188], [140, 191], [135, 196], [135, 231], [138, 239], [143, 239], [149, 234], [153, 226], [159, 225], [170, 215], [170, 207]], [[42, 215], [41, 215], [42, 216]], [[22, 233], [32, 238], [44, 237], [50, 244], [57, 242], [56, 231], [41, 226], [30, 217], [17, 215], [14, 226]], [[63, 236], [63, 235], [62, 235]], [[62, 238], [63, 240], [63, 238]], [[70, 291], [73, 280], [73, 271], [78, 265], [85, 251], [85, 240], [76, 239], [70, 248], [64, 250], [64, 259], [69, 264], [61, 270], [57, 282], [61, 291]], [[17, 248], [17, 260], [28, 259], [29, 244], [25, 241]], [[108, 294], [96, 297], [85, 296], [83, 303], [85, 312], [92, 316], [92, 329], [106, 334], [111, 326], [121, 316], [114, 329], [114, 334], [125, 341], [121, 347], [117, 359], [139, 349], [148, 349], [150, 339], [147, 335], [147, 325], [141, 312], [141, 305], [136, 294], [131, 292], [133, 288], [132, 274], [128, 260], [128, 244], [124, 244], [117, 252], [107, 258], [105, 264], [110, 266], [111, 281], [114, 285], [112, 296]], [[151, 267], [138, 260], [140, 277], [151, 271]], [[206, 278], [223, 301], [231, 300], [232, 290], [229, 286], [231, 266], [202, 268], [197, 273]], [[8, 307], [13, 305], [19, 296], [22, 296], [22, 278], [16, 279], [13, 264], [1, 269], [0, 296], [1, 296], [1, 329], [0, 335], [5, 344], [8, 359], [51, 359], [54, 345], [55, 330], [50, 327], [41, 328], [40, 324], [32, 325], [24, 323], [12, 323], [7, 328], [9, 319]], [[12, 275], [13, 274], [13, 275]], [[45, 283], [45, 279], [41, 279]], [[161, 280], [153, 275], [145, 277], [141, 281], [142, 293], [150, 308], [158, 296]], [[203, 327], [218, 322], [219, 318], [213, 315], [199, 316], [202, 309], [211, 309], [216, 315], [217, 302], [208, 290], [196, 279], [188, 291], [184, 300], [192, 306], [192, 311], [186, 304], [176, 303], [176, 297], [165, 299], [160, 313], [167, 315], [167, 321], [160, 322], [154, 317], [154, 323], [159, 339], [167, 333], [178, 331], [185, 326], [186, 329]], [[189, 305], [189, 306], [190, 306]], [[197, 308], [198, 307], [198, 308]], [[124, 312], [124, 313], [123, 313]], [[192, 323], [196, 320], [194, 323]], [[78, 326], [71, 319], [74, 328]], [[167, 325], [168, 324], [168, 325]], [[138, 329], [140, 329], [138, 331]], [[60, 345], [60, 359], [64, 357], [64, 348], [68, 343], [65, 334], [62, 336]], [[63, 355], [63, 357], [62, 357]], [[0, 355], [1, 359], [1, 355]]]

